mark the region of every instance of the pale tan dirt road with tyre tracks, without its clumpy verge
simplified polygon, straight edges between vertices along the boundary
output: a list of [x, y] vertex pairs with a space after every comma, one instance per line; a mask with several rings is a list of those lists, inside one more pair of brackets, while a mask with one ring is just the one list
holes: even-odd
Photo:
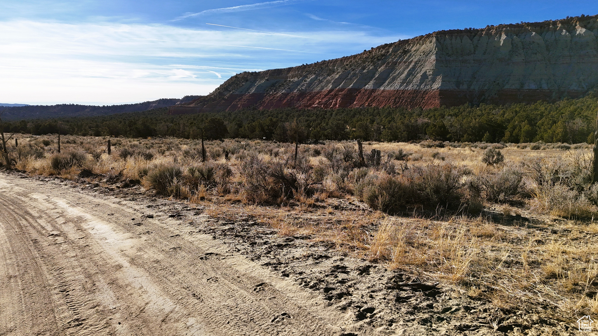
[[139, 201], [0, 173], [0, 335], [341, 335], [350, 320]]

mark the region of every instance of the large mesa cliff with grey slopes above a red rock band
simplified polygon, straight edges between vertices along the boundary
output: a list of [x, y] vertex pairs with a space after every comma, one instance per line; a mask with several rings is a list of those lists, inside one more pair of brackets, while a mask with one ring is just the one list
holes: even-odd
[[445, 30], [310, 65], [243, 72], [171, 113], [515, 103], [598, 87], [598, 16]]

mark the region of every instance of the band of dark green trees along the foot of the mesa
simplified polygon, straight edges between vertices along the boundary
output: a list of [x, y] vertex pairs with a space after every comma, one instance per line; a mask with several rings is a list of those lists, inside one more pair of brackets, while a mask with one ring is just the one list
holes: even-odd
[[42, 135], [175, 136], [208, 139], [364, 139], [454, 142], [594, 142], [598, 102], [594, 93], [556, 103], [480, 105], [422, 110], [405, 108], [295, 109], [167, 115], [166, 109], [110, 116], [22, 120], [4, 132]]

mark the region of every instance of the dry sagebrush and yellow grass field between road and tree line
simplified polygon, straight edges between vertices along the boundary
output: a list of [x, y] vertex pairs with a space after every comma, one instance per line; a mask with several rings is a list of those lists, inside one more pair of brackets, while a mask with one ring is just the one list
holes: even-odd
[[[361, 159], [355, 141], [295, 154], [225, 139], [202, 155], [177, 138], [62, 136], [60, 153], [57, 136], [17, 140], [21, 173], [185, 204], [206, 232], [374, 327], [568, 334], [598, 315], [585, 143], [364, 142]], [[467, 323], [450, 322], [447, 300]]]

